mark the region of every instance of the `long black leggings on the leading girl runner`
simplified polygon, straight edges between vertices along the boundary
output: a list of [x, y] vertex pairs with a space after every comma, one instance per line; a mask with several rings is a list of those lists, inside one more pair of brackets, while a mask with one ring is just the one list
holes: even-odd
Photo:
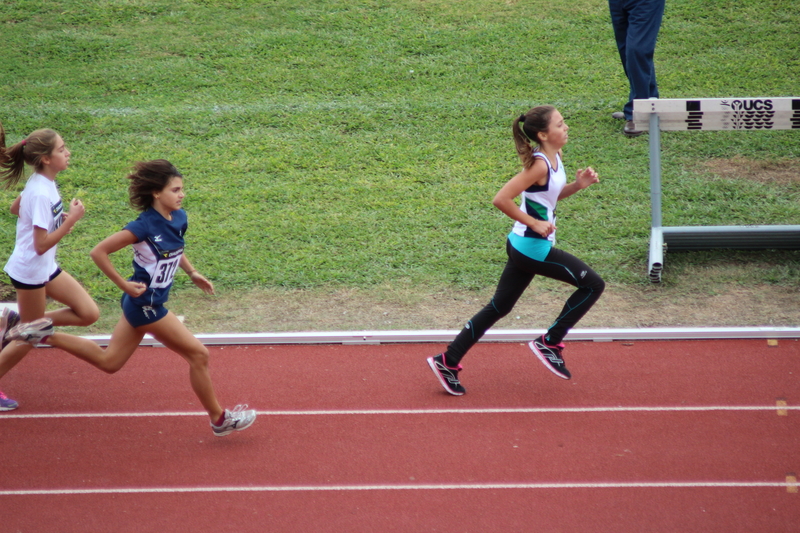
[[552, 248], [544, 261], [521, 254], [506, 242], [508, 262], [500, 275], [492, 301], [478, 311], [445, 352], [448, 366], [455, 367], [467, 351], [498, 320], [506, 316], [537, 274], [569, 283], [577, 288], [564, 304], [561, 314], [547, 330], [548, 344], [558, 344], [603, 294], [605, 282], [586, 263], [563, 250]]

